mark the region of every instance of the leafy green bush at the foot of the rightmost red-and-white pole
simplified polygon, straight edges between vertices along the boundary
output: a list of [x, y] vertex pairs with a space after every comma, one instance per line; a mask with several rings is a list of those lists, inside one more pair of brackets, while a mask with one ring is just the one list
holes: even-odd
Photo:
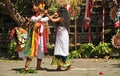
[[99, 57], [103, 57], [108, 55], [111, 52], [111, 48], [110, 48], [110, 43], [105, 43], [105, 42], [100, 42], [97, 46], [96, 46], [96, 54]]

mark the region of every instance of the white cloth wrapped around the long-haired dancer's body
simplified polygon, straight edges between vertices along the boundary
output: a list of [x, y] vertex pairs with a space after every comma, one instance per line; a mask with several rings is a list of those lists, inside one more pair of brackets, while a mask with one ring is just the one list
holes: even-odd
[[67, 29], [63, 26], [57, 27], [54, 55], [69, 55], [69, 35]]

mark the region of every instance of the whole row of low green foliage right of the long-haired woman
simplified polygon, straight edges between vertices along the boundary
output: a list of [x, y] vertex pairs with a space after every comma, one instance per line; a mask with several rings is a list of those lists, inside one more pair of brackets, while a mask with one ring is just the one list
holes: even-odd
[[70, 52], [70, 58], [103, 58], [109, 56], [112, 52], [110, 43], [100, 42], [98, 45], [92, 43], [81, 44], [78, 50], [72, 50]]

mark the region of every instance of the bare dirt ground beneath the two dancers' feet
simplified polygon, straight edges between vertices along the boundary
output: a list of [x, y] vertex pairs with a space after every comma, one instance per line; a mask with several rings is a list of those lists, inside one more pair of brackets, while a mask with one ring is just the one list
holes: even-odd
[[[115, 59], [71, 59], [74, 69], [69, 71], [55, 71], [51, 66], [52, 57], [44, 57], [42, 67], [37, 73], [23, 74], [19, 71], [24, 68], [25, 60], [0, 59], [0, 76], [120, 76], [120, 60]], [[36, 58], [33, 58], [30, 67], [35, 69]]]

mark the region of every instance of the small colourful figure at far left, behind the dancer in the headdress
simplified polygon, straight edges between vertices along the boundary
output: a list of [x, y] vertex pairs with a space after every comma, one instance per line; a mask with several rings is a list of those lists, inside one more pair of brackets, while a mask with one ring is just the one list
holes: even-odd
[[18, 58], [24, 58], [25, 43], [27, 39], [27, 30], [22, 26], [14, 27], [10, 32], [10, 39], [16, 43], [16, 51], [18, 52]]

